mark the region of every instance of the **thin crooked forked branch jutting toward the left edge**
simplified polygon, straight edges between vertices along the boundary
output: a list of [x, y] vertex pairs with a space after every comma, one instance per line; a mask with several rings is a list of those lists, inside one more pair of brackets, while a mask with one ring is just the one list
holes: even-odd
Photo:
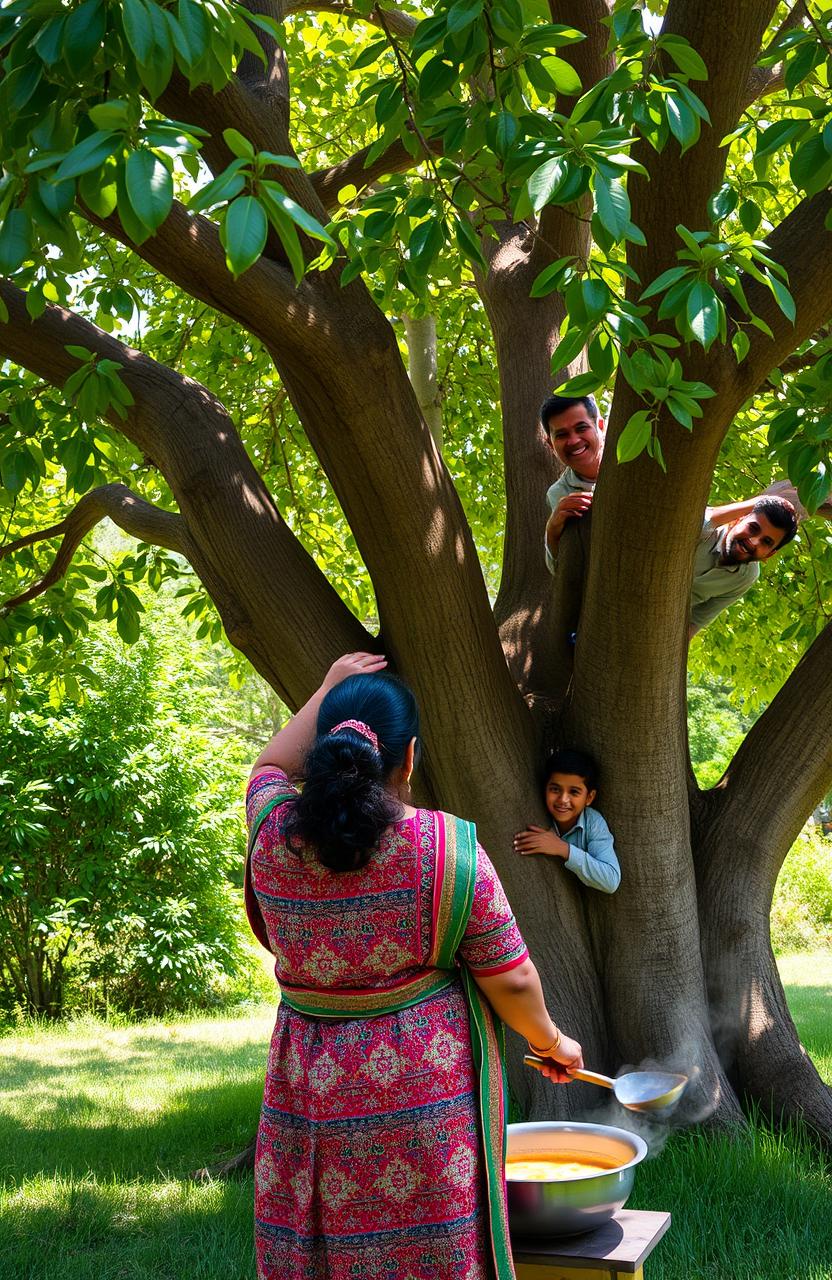
[[77, 548], [86, 535], [101, 520], [109, 517], [113, 524], [123, 529], [125, 534], [141, 539], [143, 543], [152, 543], [155, 547], [166, 547], [170, 552], [180, 552], [187, 556], [187, 531], [184, 521], [174, 512], [163, 511], [147, 502], [137, 493], [133, 493], [123, 484], [105, 484], [97, 489], [84, 493], [73, 509], [56, 525], [41, 529], [23, 538], [15, 539], [0, 547], [0, 559], [12, 556], [14, 552], [31, 547], [33, 543], [58, 538], [63, 534], [63, 541], [58, 548], [55, 558], [49, 571], [37, 582], [19, 595], [14, 595], [3, 602], [4, 609], [13, 609], [18, 604], [33, 600], [42, 595], [50, 586], [60, 581]]

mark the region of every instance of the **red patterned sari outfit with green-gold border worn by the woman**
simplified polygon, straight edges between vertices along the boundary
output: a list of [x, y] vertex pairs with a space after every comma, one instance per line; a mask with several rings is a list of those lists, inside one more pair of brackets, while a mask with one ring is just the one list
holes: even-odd
[[292, 794], [269, 771], [248, 799], [247, 908], [282, 989], [259, 1275], [508, 1280], [500, 1043], [471, 977], [527, 955], [499, 881], [474, 827], [430, 810], [334, 874], [285, 847]]

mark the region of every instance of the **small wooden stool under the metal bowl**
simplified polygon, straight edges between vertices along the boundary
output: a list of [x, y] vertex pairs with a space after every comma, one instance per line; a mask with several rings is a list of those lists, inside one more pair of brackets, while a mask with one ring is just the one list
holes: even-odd
[[515, 1239], [517, 1280], [644, 1280], [644, 1260], [668, 1226], [669, 1213], [622, 1208], [595, 1231], [566, 1240]]

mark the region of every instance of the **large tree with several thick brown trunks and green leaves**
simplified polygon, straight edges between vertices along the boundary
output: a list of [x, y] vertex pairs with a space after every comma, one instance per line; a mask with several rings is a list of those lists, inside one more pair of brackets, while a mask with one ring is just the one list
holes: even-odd
[[[788, 631], [812, 643], [707, 792], [689, 764], [685, 672], [694, 547], [737, 416], [735, 458], [750, 451], [759, 472], [773, 451], [810, 508], [828, 493], [829, 5], [655, 8], [6, 5], [0, 352], [20, 372], [4, 387], [3, 554], [31, 576], [3, 637], [18, 645], [12, 684], [32, 637], [42, 662], [86, 625], [73, 554], [109, 516], [145, 544], [115, 575], [87, 564], [106, 577], [97, 612], [125, 639], [129, 582], [187, 562], [201, 584], [186, 588], [189, 611], [210, 598], [291, 707], [337, 654], [381, 645], [421, 704], [421, 799], [476, 818], [588, 1062], [684, 1066], [689, 1115], [737, 1120], [751, 1097], [828, 1133], [832, 1100], [768, 936], [778, 868], [832, 783], [822, 539], [817, 608], [795, 605]], [[154, 300], [172, 285], [182, 321], [160, 335]], [[457, 367], [476, 365], [481, 404], [472, 353], [493, 344], [494, 603], [434, 371], [454, 340], [448, 297], [474, 291], [490, 337], [458, 302]], [[193, 343], [214, 351], [207, 385], [182, 371]], [[269, 398], [232, 416], [228, 365], [264, 352]], [[558, 385], [605, 389], [612, 410], [591, 547], [589, 520], [568, 529], [553, 584], [556, 465], [536, 412]], [[328, 532], [292, 483], [292, 415], [348, 524], [344, 556], [369, 575], [378, 636], [355, 575], [321, 571]], [[268, 484], [278, 457], [283, 479]], [[64, 479], [60, 518], [38, 522]], [[736, 666], [733, 639], [714, 653]], [[541, 817], [540, 751], [566, 740], [602, 762], [623, 868], [612, 899], [511, 852]], [[513, 1075], [538, 1110], [589, 1101]]]

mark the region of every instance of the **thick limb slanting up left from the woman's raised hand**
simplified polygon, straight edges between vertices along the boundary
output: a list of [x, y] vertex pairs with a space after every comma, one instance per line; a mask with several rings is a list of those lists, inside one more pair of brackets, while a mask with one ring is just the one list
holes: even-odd
[[31, 320], [6, 280], [0, 353], [63, 387], [68, 344], [118, 361], [134, 397], [113, 425], [164, 472], [187, 526], [187, 556], [227, 635], [289, 705], [314, 691], [339, 653], [374, 644], [278, 512], [224, 407], [204, 387], [96, 325], [47, 306]]

